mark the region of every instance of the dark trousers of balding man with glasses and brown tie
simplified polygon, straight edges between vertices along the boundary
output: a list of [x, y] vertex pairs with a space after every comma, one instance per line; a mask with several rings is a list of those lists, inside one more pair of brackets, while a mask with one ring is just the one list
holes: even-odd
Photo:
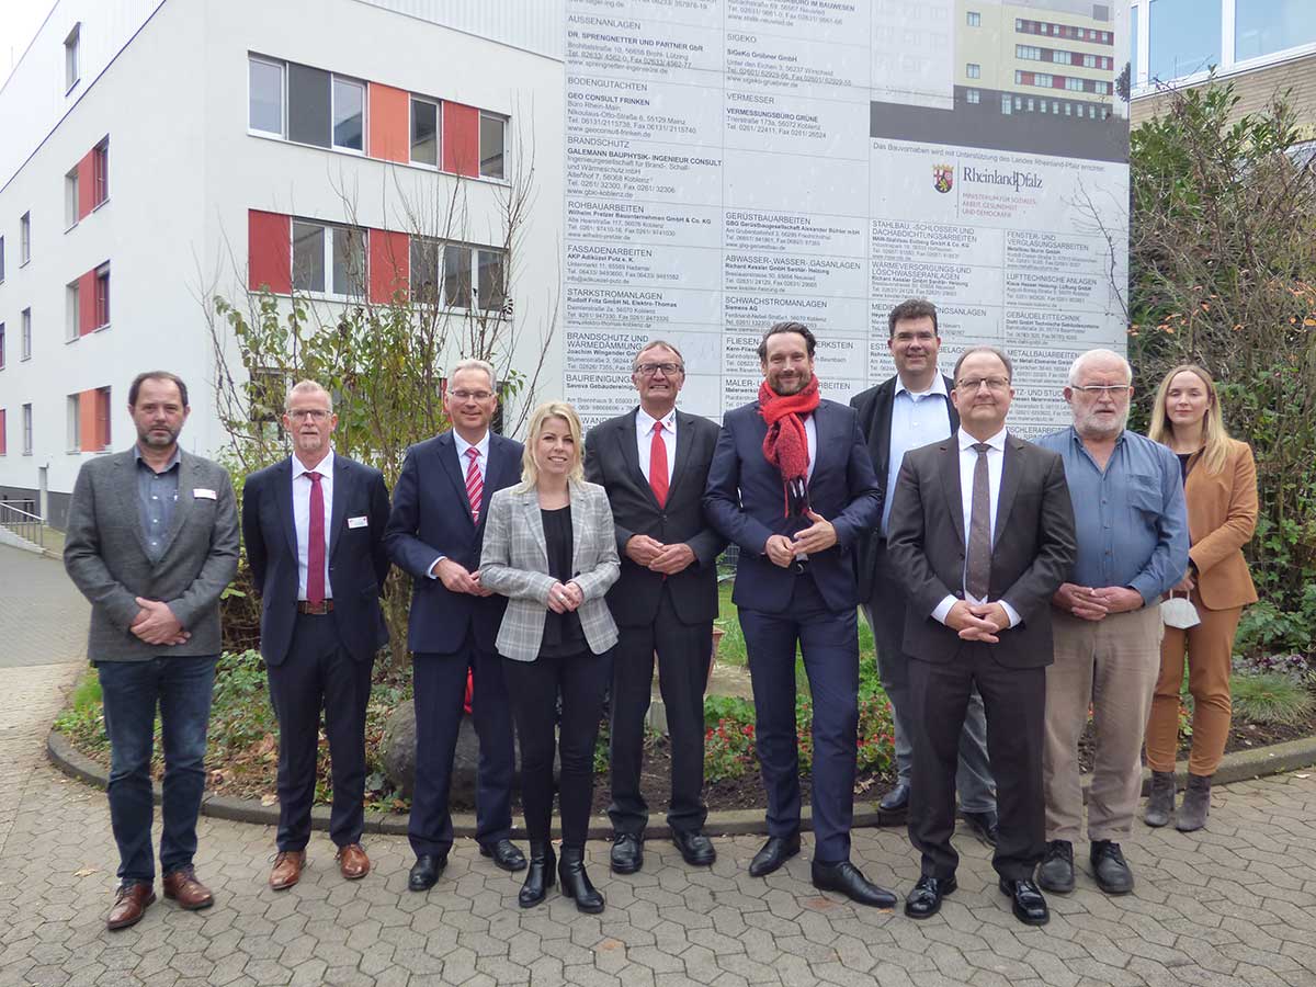
[[909, 841], [923, 854], [928, 876], [949, 878], [959, 862], [950, 845], [955, 766], [975, 686], [987, 709], [987, 753], [996, 767], [1000, 834], [992, 866], [1003, 878], [1032, 880], [1045, 850], [1046, 669], [1007, 669], [992, 650], [1000, 646], [971, 641], [950, 662], [909, 662], [916, 729]]

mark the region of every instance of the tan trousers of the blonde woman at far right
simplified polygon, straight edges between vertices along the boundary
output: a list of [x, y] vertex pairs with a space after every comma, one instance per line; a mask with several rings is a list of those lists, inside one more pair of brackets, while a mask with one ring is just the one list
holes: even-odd
[[1198, 591], [1190, 596], [1202, 622], [1195, 628], [1165, 629], [1161, 642], [1161, 678], [1148, 720], [1148, 765], [1153, 771], [1173, 771], [1179, 741], [1179, 686], [1183, 683], [1183, 651], [1188, 650], [1188, 691], [1192, 694], [1192, 755], [1188, 771], [1213, 775], [1229, 740], [1233, 704], [1229, 699], [1229, 659], [1242, 607], [1208, 611]]

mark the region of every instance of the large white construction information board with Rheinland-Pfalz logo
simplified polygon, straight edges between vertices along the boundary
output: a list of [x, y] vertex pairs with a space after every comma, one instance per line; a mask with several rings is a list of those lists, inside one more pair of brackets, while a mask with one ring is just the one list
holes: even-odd
[[848, 400], [894, 372], [912, 296], [946, 372], [966, 345], [1013, 357], [1023, 434], [1067, 421], [1078, 353], [1123, 351], [1125, 3], [567, 0], [566, 53], [565, 393], [587, 425], [634, 404], [653, 338], [686, 357], [686, 411], [753, 400], [784, 318]]

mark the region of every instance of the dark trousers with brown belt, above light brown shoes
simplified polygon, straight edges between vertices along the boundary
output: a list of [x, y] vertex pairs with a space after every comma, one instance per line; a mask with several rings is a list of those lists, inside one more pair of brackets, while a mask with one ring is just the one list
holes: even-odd
[[357, 661], [342, 646], [333, 613], [299, 613], [288, 654], [282, 663], [270, 666], [270, 701], [279, 717], [275, 845], [280, 850], [304, 850], [311, 840], [321, 709], [333, 772], [329, 837], [338, 846], [361, 842], [366, 821], [366, 704], [372, 667], [372, 659]]

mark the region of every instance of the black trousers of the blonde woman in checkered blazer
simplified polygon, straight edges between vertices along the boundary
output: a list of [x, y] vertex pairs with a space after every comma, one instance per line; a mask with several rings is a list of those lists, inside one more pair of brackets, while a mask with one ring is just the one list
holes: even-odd
[[[594, 799], [594, 745], [599, 738], [603, 696], [612, 671], [612, 653], [546, 658], [533, 662], [503, 659], [512, 715], [521, 740], [521, 805], [530, 840], [549, 840], [553, 820], [553, 753], [562, 762], [558, 801], [562, 845], [583, 848], [590, 832]], [[557, 697], [562, 695], [562, 724], [557, 742]]]

